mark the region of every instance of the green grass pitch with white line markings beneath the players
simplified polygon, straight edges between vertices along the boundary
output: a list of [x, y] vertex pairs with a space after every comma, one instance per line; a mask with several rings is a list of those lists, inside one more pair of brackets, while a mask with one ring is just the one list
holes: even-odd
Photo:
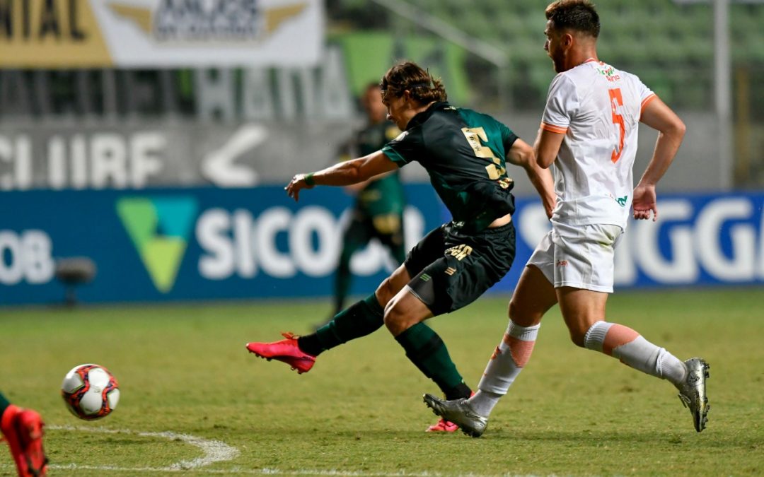
[[[711, 363], [708, 427], [695, 433], [672, 385], [572, 345], [556, 308], [484, 437], [432, 435], [438, 390], [382, 329], [297, 375], [244, 343], [307, 333], [325, 301], [0, 311], [0, 390], [40, 411], [51, 475], [762, 475], [761, 289], [620, 292], [612, 321], [682, 359]], [[469, 385], [506, 327], [484, 297], [433, 327]], [[111, 369], [121, 402], [79, 421], [59, 395], [80, 363]], [[105, 433], [105, 430], [124, 430]], [[0, 475], [11, 475], [10, 454]], [[215, 459], [224, 459], [212, 462]]]

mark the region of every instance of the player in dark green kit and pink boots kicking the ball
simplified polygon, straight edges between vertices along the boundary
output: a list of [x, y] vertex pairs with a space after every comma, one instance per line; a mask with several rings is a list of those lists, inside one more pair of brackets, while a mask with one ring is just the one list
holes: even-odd
[[[445, 343], [424, 321], [468, 305], [509, 271], [515, 256], [513, 180], [506, 162], [525, 169], [547, 214], [555, 205], [552, 176], [536, 163], [533, 148], [491, 118], [446, 102], [445, 88], [416, 63], [390, 68], [380, 83], [387, 117], [403, 133], [381, 150], [319, 172], [297, 174], [286, 185], [295, 200], [316, 185], [349, 185], [419, 162], [452, 221], [429, 232], [374, 294], [303, 337], [285, 333], [274, 343], [247, 349], [297, 372], [316, 356], [371, 334], [384, 324], [406, 356], [447, 399], [467, 398], [471, 388], [448, 356]], [[432, 430], [454, 431], [445, 421]]]

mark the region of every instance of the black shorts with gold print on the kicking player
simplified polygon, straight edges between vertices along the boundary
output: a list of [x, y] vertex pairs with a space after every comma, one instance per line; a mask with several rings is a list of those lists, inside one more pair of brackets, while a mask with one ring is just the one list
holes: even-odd
[[406, 257], [409, 288], [434, 316], [469, 305], [509, 272], [515, 259], [512, 222], [477, 234], [444, 224]]

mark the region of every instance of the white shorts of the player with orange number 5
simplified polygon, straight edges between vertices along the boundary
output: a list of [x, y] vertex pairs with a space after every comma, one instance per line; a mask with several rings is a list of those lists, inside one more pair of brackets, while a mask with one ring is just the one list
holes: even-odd
[[527, 264], [537, 266], [555, 288], [613, 293], [615, 248], [622, 235], [617, 225], [555, 223]]

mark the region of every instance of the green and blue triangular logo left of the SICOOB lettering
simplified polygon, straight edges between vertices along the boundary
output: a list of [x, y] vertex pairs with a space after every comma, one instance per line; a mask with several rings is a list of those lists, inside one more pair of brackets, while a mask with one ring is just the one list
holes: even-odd
[[138, 256], [162, 293], [170, 292], [186, 253], [193, 219], [193, 197], [128, 197], [117, 201], [117, 214]]

